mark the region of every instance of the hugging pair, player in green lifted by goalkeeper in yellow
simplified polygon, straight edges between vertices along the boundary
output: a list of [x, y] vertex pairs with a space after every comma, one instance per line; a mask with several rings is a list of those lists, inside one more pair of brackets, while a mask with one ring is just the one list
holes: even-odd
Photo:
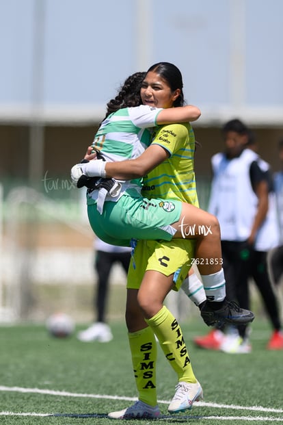
[[[191, 258], [204, 259], [198, 268], [208, 298], [201, 309], [206, 324], [219, 320], [251, 322], [254, 315], [226, 299], [219, 223], [198, 207], [193, 170], [195, 139], [189, 121], [198, 119], [200, 110], [183, 106], [180, 71], [167, 62], [150, 67], [140, 90], [144, 105], [138, 107], [134, 107], [138, 103], [133, 99], [137, 100], [139, 87], [130, 86], [129, 81], [124, 85], [116, 105], [108, 104], [107, 118], [94, 138], [93, 147], [103, 159], [77, 164], [72, 168], [72, 179], [116, 179], [115, 193], [110, 190], [109, 194], [103, 187], [89, 191], [90, 224], [105, 242], [129, 245], [129, 240], [138, 240], [129, 269], [126, 302], [133, 366], [137, 371], [144, 344], [150, 347], [148, 356], [155, 359], [157, 335], [178, 375], [176, 394], [169, 407], [170, 412], [177, 412], [191, 409], [193, 401], [202, 396], [202, 388], [193, 374], [180, 326], [163, 301], [172, 288], [180, 287]], [[163, 127], [155, 128], [157, 125]], [[155, 135], [148, 131], [150, 127]], [[141, 194], [145, 175], [148, 198]], [[207, 232], [199, 234], [195, 229]], [[177, 347], [176, 337], [180, 341]], [[139, 401], [110, 417], [159, 415], [155, 370], [147, 388], [143, 387], [142, 372], [136, 372], [135, 378]]]

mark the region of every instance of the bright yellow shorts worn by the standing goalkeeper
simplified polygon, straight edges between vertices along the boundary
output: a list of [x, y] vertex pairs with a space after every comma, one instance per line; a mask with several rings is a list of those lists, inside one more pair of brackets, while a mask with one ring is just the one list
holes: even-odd
[[195, 247], [196, 240], [189, 239], [140, 240], [131, 259], [126, 287], [139, 289], [146, 270], [155, 270], [165, 276], [172, 274], [173, 289], [178, 291], [191, 268]]

